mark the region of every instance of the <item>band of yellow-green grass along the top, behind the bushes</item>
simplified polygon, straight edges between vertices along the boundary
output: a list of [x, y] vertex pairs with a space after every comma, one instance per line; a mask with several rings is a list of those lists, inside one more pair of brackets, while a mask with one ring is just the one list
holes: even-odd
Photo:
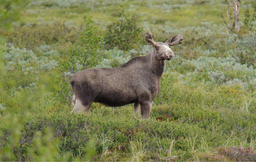
[[[242, 3], [244, 4], [241, 4], [242, 7], [240, 7], [239, 20], [243, 22], [245, 19], [243, 13], [247, 9], [243, 6], [252, 4], [252, 2], [245, 1]], [[59, 21], [72, 20], [72, 24], [78, 26], [83, 22], [81, 17], [87, 14], [93, 15], [93, 19], [98, 22], [103, 22], [101, 25], [104, 26], [104, 24], [108, 22], [118, 20], [117, 15], [121, 13], [120, 4], [123, 4], [128, 15], [134, 13], [140, 14], [142, 17], [140, 21], [147, 21], [148, 24], [161, 24], [170, 25], [175, 28], [185, 28], [186, 26], [201, 25], [200, 22], [212, 21], [213, 24], [221, 25], [223, 24], [223, 19], [220, 16], [220, 9], [223, 10], [223, 16], [226, 22], [228, 22], [226, 16], [227, 7], [224, 1], [206, 1], [202, 3], [186, 3], [183, 1], [123, 1], [121, 3], [115, 1], [89, 1], [88, 4], [82, 3], [81, 6], [69, 6], [57, 9], [54, 7], [47, 8], [45, 6], [43, 6], [44, 8], [29, 6], [26, 8], [27, 12], [23, 13], [20, 21], [37, 22], [41, 18], [43, 21], [53, 19]], [[180, 7], [175, 7], [175, 5], [180, 5]], [[90, 8], [90, 6], [93, 6], [93, 8]], [[252, 5], [250, 10], [252, 15]]]

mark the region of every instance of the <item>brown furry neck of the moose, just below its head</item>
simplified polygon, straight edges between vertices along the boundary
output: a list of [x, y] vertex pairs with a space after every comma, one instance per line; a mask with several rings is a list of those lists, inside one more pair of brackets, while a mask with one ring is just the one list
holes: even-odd
[[150, 69], [160, 79], [163, 72], [164, 72], [165, 60], [156, 59], [153, 55], [153, 51], [151, 51], [150, 55], [151, 55], [151, 57], [150, 57]]

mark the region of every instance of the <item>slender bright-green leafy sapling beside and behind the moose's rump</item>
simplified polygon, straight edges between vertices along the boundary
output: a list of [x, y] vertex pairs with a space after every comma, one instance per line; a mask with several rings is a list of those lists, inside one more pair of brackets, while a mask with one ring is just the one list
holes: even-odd
[[81, 70], [93, 68], [102, 58], [109, 58], [109, 53], [99, 52], [99, 46], [103, 46], [104, 34], [99, 27], [93, 25], [92, 16], [85, 15], [84, 30], [78, 32], [79, 41], [70, 44], [64, 53], [65, 58], [58, 60], [59, 79], [54, 80], [56, 88], [54, 92], [63, 103], [71, 103], [72, 88], [70, 85], [72, 75]]

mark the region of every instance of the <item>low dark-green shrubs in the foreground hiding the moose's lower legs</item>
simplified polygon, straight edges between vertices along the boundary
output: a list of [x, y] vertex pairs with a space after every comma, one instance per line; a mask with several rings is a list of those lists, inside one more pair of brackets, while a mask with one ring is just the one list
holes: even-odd
[[[131, 106], [115, 109], [103, 106], [93, 109], [89, 114], [70, 114], [70, 110], [64, 108], [62, 113], [59, 113], [59, 110], [51, 110], [30, 115], [21, 123], [22, 138], [18, 142], [19, 145], [12, 150], [12, 160], [26, 161], [36, 155], [42, 156], [35, 150], [32, 150], [35, 153], [33, 156], [29, 152], [36, 145], [36, 139], [43, 142], [48, 136], [48, 141], [57, 142], [53, 147], [56, 147], [58, 156], [79, 155], [82, 159], [88, 153], [88, 142], [93, 139], [95, 143], [92, 146], [96, 154], [92, 161], [104, 160], [108, 155], [116, 156], [117, 152], [131, 155], [134, 147], [139, 147], [133, 143], [136, 140], [140, 144], [145, 143], [145, 146], [140, 148], [144, 150], [141, 155], [144, 160], [161, 161], [163, 158], [175, 157], [176, 161], [182, 161], [193, 157], [193, 152], [202, 149], [202, 145], [219, 147], [232, 138], [234, 146], [245, 140], [244, 147], [248, 147], [256, 137], [253, 131], [256, 129], [256, 116], [253, 113], [239, 113], [228, 108], [214, 110], [208, 106], [171, 104], [153, 107], [151, 119], [140, 120], [133, 115], [132, 109]], [[157, 120], [165, 115], [171, 118]], [[52, 135], [47, 133], [47, 129], [51, 130]], [[1, 131], [5, 134], [1, 138], [1, 147], [5, 148], [12, 134], [6, 128]], [[43, 143], [41, 145], [47, 146]], [[168, 150], [171, 156], [166, 154]], [[157, 152], [158, 155], [151, 151]]]

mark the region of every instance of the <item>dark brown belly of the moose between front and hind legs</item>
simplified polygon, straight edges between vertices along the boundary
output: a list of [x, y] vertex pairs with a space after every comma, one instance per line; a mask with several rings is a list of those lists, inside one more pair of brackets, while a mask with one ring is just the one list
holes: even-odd
[[138, 102], [138, 99], [135, 93], [113, 91], [99, 95], [94, 102], [104, 106], [117, 107]]

